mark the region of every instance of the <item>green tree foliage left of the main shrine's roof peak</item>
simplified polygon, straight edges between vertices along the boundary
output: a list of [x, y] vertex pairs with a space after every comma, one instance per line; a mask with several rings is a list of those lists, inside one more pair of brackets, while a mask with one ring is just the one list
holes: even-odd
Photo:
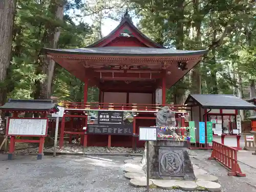
[[[75, 25], [68, 11], [79, 8], [81, 1], [69, 2], [65, 6], [63, 21], [55, 18], [51, 9], [53, 1], [19, 1], [13, 30], [13, 59], [11, 62], [9, 96], [12, 98], [33, 98], [36, 81], [44, 81], [46, 75], [38, 73], [38, 55], [44, 47], [51, 47], [52, 42], [46, 41], [51, 28], [60, 28], [58, 48], [79, 48], [87, 45], [92, 30], [88, 24], [80, 22]], [[64, 69], [56, 67], [53, 82], [53, 95], [69, 101], [83, 99], [83, 83]], [[79, 92], [80, 91], [80, 92]]]

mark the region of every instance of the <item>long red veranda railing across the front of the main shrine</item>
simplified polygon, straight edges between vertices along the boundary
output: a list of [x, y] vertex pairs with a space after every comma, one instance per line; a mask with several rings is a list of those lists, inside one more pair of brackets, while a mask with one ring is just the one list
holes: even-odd
[[99, 103], [99, 102], [64, 102], [66, 109], [87, 109], [87, 110], [126, 110], [126, 111], [149, 111], [157, 112], [162, 106], [169, 106], [173, 111], [186, 113], [190, 111], [187, 105], [161, 105], [161, 104], [131, 104], [131, 103]]

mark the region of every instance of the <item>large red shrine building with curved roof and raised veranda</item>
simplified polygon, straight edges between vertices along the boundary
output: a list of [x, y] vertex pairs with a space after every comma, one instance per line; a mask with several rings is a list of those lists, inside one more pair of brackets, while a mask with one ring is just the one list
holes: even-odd
[[[83, 103], [67, 102], [60, 126], [65, 137], [83, 146], [141, 147], [139, 126], [155, 126], [155, 114], [174, 86], [206, 52], [166, 49], [142, 34], [124, 14], [108, 36], [80, 49], [45, 49], [48, 57], [84, 82]], [[99, 102], [89, 103], [88, 87], [99, 89]], [[186, 106], [169, 105], [177, 121]], [[70, 120], [67, 121], [67, 118]], [[74, 125], [74, 119], [79, 123]], [[182, 121], [179, 121], [182, 123]], [[179, 124], [181, 125], [181, 124]]]

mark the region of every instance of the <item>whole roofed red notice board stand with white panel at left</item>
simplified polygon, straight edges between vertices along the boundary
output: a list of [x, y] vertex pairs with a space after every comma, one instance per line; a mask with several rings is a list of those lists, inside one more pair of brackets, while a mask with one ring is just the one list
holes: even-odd
[[[40, 99], [8, 99], [0, 106], [0, 110], [10, 114], [6, 123], [6, 136], [10, 137], [8, 160], [13, 158], [15, 142], [39, 143], [37, 159], [42, 159], [45, 137], [48, 135], [48, 114], [56, 112], [55, 106], [52, 100]], [[37, 117], [20, 117], [25, 113]]]

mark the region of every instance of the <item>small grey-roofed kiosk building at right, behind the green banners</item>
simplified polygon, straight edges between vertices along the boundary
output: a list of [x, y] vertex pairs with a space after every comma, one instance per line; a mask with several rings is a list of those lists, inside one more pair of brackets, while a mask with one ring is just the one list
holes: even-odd
[[[199, 128], [199, 122], [212, 122], [212, 132], [214, 140], [228, 146], [240, 147], [241, 117], [238, 110], [255, 110], [256, 106], [233, 95], [214, 94], [190, 94], [185, 104], [191, 106], [190, 120], [195, 121], [195, 126]], [[199, 143], [199, 129], [196, 129], [196, 141]], [[206, 144], [205, 144], [206, 143]], [[207, 134], [205, 143], [201, 145], [207, 147]]]

